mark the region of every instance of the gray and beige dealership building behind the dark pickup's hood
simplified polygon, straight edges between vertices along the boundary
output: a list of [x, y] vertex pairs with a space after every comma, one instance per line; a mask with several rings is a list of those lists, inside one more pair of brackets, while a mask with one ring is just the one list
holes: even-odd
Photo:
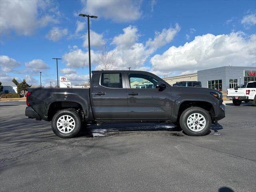
[[228, 88], [256, 81], [256, 67], [223, 66], [163, 79], [171, 85], [180, 81], [200, 81], [202, 87], [226, 91]]

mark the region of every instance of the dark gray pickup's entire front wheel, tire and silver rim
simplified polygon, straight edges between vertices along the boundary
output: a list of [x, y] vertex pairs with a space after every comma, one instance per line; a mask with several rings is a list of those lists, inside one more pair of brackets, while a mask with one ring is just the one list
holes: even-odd
[[208, 111], [200, 107], [190, 107], [180, 116], [182, 130], [190, 136], [204, 136], [211, 127], [212, 119]]

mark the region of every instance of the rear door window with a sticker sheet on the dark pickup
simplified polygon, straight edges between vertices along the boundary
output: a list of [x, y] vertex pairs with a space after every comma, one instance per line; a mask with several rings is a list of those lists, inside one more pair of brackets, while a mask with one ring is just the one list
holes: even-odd
[[102, 73], [100, 85], [108, 88], [123, 88], [121, 73]]

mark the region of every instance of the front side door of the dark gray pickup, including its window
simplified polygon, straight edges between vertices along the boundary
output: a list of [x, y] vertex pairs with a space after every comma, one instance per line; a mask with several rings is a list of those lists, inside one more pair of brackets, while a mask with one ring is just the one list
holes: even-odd
[[150, 73], [132, 72], [126, 75], [128, 80], [128, 118], [130, 119], [170, 119], [172, 112], [172, 96], [170, 87], [156, 89], [161, 81]]

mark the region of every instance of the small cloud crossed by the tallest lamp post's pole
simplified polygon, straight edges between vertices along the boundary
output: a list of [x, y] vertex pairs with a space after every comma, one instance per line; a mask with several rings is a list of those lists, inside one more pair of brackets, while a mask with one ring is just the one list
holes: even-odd
[[[86, 35], [83, 36], [83, 38], [83, 46], [85, 48], [88, 48], [88, 33], [86, 33]], [[104, 44], [106, 44], [106, 41], [103, 39], [103, 34], [98, 34], [93, 30], [90, 30], [90, 46], [95, 48], [101, 48]]]

